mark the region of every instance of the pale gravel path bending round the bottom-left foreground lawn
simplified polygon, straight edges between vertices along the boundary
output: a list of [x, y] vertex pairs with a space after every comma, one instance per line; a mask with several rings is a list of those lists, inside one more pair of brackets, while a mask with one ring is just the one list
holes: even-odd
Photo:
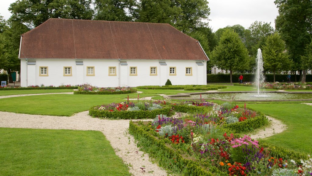
[[[116, 154], [124, 160], [124, 163], [130, 166], [130, 173], [134, 176], [143, 174], [140, 167], [145, 167], [146, 173], [144, 173], [144, 175], [167, 175], [164, 170], [149, 161], [148, 154], [139, 151], [136, 143], [134, 143], [134, 138], [127, 133], [129, 120], [92, 118], [88, 115], [88, 111], [80, 112], [70, 117], [16, 114], [0, 111], [0, 127], [101, 131], [105, 135], [106, 139], [110, 141], [110, 144], [115, 149]], [[14, 135], [11, 135], [8, 138], [12, 140], [17, 139]], [[42, 155], [44, 157], [45, 154]], [[86, 167], [88, 166], [88, 163], [83, 164], [85, 164]], [[119, 166], [114, 166], [113, 169], [118, 170]]]

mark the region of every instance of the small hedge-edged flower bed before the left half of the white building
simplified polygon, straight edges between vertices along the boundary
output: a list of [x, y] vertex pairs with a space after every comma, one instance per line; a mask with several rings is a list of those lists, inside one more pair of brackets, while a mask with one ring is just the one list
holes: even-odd
[[136, 93], [136, 89], [131, 87], [95, 87], [90, 84], [78, 86], [78, 91], [74, 94], [88, 94], [88, 95], [111, 95], [111, 94], [129, 94]]

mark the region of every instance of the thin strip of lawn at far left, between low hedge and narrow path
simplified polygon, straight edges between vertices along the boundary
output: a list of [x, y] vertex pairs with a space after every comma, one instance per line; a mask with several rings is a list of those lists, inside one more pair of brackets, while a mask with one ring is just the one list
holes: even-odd
[[73, 92], [73, 91], [74, 91], [73, 89], [11, 90], [11, 91], [0, 91], [0, 96], [21, 95], [21, 94], [59, 93], [59, 92]]

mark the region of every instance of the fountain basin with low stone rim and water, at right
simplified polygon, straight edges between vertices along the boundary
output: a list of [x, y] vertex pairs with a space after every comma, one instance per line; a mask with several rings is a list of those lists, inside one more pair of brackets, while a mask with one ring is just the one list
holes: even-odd
[[312, 101], [312, 92], [263, 91], [226, 91], [226, 92], [195, 92], [169, 95], [165, 98], [178, 100], [221, 100], [221, 101]]

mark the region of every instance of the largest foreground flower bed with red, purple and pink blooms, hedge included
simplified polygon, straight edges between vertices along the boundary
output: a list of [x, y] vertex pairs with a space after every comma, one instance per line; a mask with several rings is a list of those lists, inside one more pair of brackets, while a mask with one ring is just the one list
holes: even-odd
[[[178, 106], [185, 105], [206, 107], [209, 112], [181, 118], [158, 115], [152, 122], [131, 121], [129, 124], [129, 132], [138, 141], [138, 146], [160, 166], [185, 175], [312, 173], [311, 158], [270, 148], [238, 134], [266, 125], [268, 121], [263, 114], [246, 107], [231, 107], [229, 103], [220, 106], [208, 102], [184, 102], [171, 106], [178, 110]], [[301, 161], [300, 157], [303, 158]]]

